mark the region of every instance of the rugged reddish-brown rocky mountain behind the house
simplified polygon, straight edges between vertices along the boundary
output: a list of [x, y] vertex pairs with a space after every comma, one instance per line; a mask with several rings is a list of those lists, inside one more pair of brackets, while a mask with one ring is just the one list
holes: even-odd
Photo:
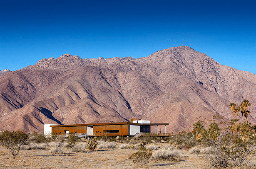
[[167, 132], [190, 130], [199, 116], [233, 118], [229, 103], [239, 105], [244, 98], [254, 124], [256, 75], [187, 46], [138, 59], [65, 54], [0, 76], [0, 130], [43, 131], [43, 124], [130, 118], [169, 123]]

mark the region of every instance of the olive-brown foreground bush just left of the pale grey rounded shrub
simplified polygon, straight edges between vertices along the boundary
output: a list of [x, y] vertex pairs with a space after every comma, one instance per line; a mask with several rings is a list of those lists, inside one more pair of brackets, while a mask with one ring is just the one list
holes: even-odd
[[149, 163], [150, 157], [152, 156], [152, 150], [145, 148], [140, 149], [139, 151], [133, 153], [129, 159], [132, 159], [133, 163], [139, 163], [142, 166], [145, 166]]

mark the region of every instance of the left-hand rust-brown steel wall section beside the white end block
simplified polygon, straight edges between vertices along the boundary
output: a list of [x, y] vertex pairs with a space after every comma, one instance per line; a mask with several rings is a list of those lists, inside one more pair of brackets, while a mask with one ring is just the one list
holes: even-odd
[[65, 130], [68, 130], [68, 133], [86, 133], [86, 126], [52, 127], [52, 133], [64, 134]]

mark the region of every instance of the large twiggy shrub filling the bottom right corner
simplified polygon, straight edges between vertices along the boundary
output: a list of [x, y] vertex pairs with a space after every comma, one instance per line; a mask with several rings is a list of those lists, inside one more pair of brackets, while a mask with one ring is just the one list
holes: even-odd
[[231, 133], [223, 133], [218, 139], [208, 138], [206, 142], [213, 148], [212, 154], [207, 156], [211, 167], [241, 167], [256, 156], [255, 137], [248, 140], [238, 138], [234, 142]]

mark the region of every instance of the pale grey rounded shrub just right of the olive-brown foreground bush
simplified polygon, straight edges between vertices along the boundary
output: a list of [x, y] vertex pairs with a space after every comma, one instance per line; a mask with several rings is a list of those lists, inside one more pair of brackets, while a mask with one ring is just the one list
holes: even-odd
[[172, 146], [162, 147], [152, 154], [152, 159], [174, 161], [179, 157], [179, 152]]

